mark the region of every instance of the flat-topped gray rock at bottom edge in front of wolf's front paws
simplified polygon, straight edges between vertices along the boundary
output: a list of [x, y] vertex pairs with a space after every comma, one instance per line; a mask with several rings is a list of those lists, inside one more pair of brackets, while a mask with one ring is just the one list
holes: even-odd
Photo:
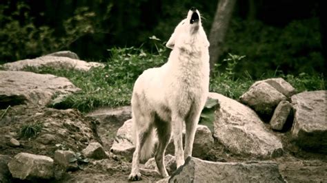
[[286, 182], [270, 162], [208, 162], [188, 157], [168, 182]]

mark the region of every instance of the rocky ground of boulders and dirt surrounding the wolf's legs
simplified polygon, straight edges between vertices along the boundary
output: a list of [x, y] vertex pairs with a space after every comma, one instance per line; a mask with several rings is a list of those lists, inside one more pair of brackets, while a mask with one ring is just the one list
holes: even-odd
[[[127, 182], [134, 151], [130, 107], [89, 114], [46, 107], [78, 91], [66, 78], [0, 71], [0, 182]], [[240, 98], [246, 105], [210, 98], [219, 107], [213, 129], [197, 128], [193, 155], [201, 160], [190, 158], [175, 171], [167, 156], [171, 181], [327, 182], [326, 91], [296, 94], [277, 78], [252, 85]], [[161, 180], [153, 160], [143, 163], [141, 182]]]

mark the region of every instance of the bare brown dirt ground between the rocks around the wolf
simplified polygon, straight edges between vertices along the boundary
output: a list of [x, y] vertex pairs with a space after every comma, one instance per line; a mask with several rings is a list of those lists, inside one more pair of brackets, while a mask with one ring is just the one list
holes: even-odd
[[[0, 110], [0, 116], [5, 109]], [[19, 131], [26, 124], [40, 122], [41, 131], [33, 138], [20, 138]], [[104, 149], [108, 152], [115, 138], [120, 123], [99, 125], [94, 118], [85, 117], [75, 109], [58, 110], [46, 107], [26, 107], [19, 105], [8, 109], [0, 120], [0, 154], [13, 157], [26, 152], [48, 155], [53, 158], [57, 149], [71, 149], [80, 152], [88, 143], [105, 139]], [[309, 153], [296, 146], [290, 140], [290, 132], [273, 131], [281, 139], [284, 155], [267, 160], [277, 162], [281, 175], [288, 182], [327, 182], [327, 156], [320, 153]], [[19, 147], [12, 147], [8, 142], [16, 138]], [[215, 140], [213, 149], [208, 151], [205, 160], [214, 162], [259, 162], [261, 160], [245, 155], [230, 153], [221, 143]], [[57, 180], [51, 182], [127, 182], [131, 163], [119, 155], [109, 153], [105, 160], [90, 160], [83, 170], [62, 173], [58, 172]], [[161, 177], [155, 171], [142, 170], [141, 182], [155, 182]], [[18, 180], [15, 180], [19, 182]]]

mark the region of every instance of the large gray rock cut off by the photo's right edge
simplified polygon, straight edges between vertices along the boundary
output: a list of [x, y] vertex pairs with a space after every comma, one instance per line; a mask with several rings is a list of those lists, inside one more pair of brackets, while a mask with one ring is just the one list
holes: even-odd
[[295, 109], [293, 138], [309, 151], [327, 153], [327, 91], [302, 92], [292, 96]]

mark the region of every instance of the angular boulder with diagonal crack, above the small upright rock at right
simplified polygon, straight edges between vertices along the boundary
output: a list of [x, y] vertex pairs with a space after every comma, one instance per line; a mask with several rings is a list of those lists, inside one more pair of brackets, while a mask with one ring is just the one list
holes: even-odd
[[239, 100], [255, 109], [261, 116], [270, 118], [279, 102], [288, 100], [293, 94], [295, 89], [286, 80], [270, 78], [255, 82]]

